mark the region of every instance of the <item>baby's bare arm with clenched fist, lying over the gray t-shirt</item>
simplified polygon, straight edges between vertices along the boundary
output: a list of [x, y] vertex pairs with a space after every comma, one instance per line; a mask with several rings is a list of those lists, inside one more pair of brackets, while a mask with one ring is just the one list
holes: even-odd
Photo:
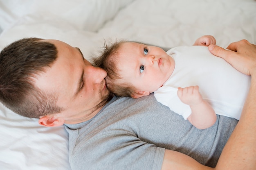
[[177, 95], [183, 103], [190, 106], [192, 113], [188, 120], [196, 128], [206, 129], [216, 122], [216, 113], [211, 105], [203, 100], [198, 86], [179, 87]]

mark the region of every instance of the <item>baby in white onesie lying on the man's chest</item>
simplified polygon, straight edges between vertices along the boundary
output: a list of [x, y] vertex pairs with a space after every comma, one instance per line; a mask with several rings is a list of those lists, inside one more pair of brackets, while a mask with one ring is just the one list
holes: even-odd
[[250, 77], [211, 54], [209, 44], [216, 40], [205, 35], [194, 46], [165, 52], [119, 41], [106, 45], [93, 64], [107, 71], [107, 87], [117, 96], [139, 98], [154, 92], [158, 102], [206, 129], [216, 122], [216, 114], [239, 120], [250, 85]]

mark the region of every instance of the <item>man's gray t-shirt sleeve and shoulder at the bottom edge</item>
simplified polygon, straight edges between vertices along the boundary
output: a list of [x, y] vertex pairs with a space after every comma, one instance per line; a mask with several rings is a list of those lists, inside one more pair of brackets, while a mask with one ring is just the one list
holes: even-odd
[[73, 169], [161, 170], [164, 151], [134, 135], [112, 133], [77, 142], [70, 164]]

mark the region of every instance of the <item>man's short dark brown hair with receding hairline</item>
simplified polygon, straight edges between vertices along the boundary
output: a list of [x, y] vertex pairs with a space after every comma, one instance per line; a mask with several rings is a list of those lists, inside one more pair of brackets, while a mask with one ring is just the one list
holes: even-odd
[[57, 59], [57, 48], [39, 38], [24, 38], [0, 52], [0, 101], [28, 118], [58, 113], [57, 97], [34, 86], [33, 79]]

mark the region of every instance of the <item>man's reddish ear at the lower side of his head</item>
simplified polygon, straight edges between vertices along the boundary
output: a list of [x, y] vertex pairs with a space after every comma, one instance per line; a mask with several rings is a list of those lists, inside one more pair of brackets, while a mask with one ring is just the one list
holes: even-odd
[[38, 123], [46, 127], [61, 126], [65, 123], [65, 120], [62, 118], [56, 118], [53, 115], [43, 116], [38, 120]]

